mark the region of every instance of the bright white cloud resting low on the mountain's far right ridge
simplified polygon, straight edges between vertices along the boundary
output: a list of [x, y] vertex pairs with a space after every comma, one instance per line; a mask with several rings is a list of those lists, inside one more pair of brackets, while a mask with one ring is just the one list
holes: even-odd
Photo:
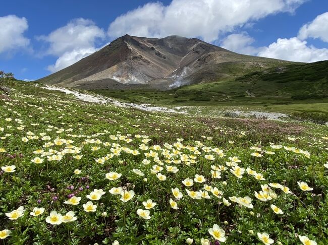
[[297, 37], [278, 38], [277, 42], [264, 47], [257, 55], [294, 62], [316, 62], [328, 59], [328, 48], [308, 46], [306, 41]]

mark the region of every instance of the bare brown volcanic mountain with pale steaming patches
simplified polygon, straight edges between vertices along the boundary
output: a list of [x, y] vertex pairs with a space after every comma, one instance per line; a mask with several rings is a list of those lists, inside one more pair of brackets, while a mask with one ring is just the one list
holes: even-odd
[[196, 38], [125, 35], [36, 82], [81, 89], [167, 90], [235, 78], [287, 63], [238, 54]]

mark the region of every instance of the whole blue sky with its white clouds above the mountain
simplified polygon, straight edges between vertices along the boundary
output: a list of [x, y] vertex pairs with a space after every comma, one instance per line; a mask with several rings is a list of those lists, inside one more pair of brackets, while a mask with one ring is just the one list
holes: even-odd
[[0, 70], [18, 79], [61, 70], [126, 33], [198, 37], [300, 62], [328, 59], [326, 0], [3, 1], [0, 26]]

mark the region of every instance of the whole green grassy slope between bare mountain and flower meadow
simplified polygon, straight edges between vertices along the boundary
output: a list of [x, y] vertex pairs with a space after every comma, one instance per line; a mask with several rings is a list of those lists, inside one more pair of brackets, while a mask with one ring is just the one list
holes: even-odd
[[[328, 120], [328, 61], [289, 65], [247, 74], [235, 80], [182, 86], [170, 91], [95, 90], [136, 103], [171, 106], [247, 106]], [[304, 114], [305, 113], [305, 114]]]

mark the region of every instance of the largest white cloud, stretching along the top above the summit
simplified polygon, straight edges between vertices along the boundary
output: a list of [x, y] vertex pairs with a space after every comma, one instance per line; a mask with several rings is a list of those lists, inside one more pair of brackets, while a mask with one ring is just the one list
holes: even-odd
[[173, 0], [168, 6], [149, 3], [116, 18], [112, 38], [135, 36], [201, 37], [212, 42], [222, 33], [279, 12], [293, 12], [306, 0]]

